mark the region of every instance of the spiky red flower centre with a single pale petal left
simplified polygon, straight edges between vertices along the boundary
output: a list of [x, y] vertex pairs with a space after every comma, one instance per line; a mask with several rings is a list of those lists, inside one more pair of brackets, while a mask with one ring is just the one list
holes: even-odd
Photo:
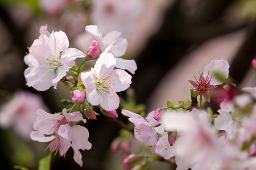
[[225, 59], [213, 60], [208, 63], [203, 73], [199, 73], [198, 79], [195, 81], [188, 80], [192, 84], [192, 89], [196, 91], [196, 95], [202, 94], [207, 101], [210, 101], [209, 91], [214, 88], [215, 85], [221, 84], [221, 80], [213, 76], [213, 73], [217, 72], [222, 74], [225, 78], [228, 78], [229, 63]]

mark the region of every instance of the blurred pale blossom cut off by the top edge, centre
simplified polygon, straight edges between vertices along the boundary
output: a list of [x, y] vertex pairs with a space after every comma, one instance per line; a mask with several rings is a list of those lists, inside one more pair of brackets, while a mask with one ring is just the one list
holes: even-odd
[[135, 18], [143, 10], [141, 0], [94, 0], [92, 22], [104, 33], [117, 30], [130, 34], [135, 29]]

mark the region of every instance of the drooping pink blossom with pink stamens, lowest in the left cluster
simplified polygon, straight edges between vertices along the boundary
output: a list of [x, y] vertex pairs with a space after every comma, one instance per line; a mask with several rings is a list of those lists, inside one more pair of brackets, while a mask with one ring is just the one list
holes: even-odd
[[90, 150], [92, 147], [88, 141], [89, 131], [84, 126], [75, 125], [78, 121], [86, 122], [82, 114], [67, 113], [66, 109], [63, 109], [62, 114], [50, 114], [39, 109], [36, 114], [36, 131], [31, 131], [31, 139], [39, 142], [52, 141], [48, 146], [49, 150], [56, 151], [56, 154], [59, 152], [60, 156], [65, 156], [69, 147], [72, 147], [75, 162], [82, 166], [82, 155], [79, 150]]

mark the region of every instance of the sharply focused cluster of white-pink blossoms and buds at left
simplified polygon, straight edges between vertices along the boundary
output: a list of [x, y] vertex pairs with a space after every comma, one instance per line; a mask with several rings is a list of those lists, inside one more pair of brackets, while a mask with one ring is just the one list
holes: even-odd
[[[38, 91], [48, 90], [51, 86], [56, 89], [58, 82], [70, 88], [72, 100], [64, 103], [73, 104], [72, 108], [63, 109], [61, 114], [47, 113], [39, 109], [30, 137], [34, 141], [49, 142], [51, 151], [65, 156], [69, 147], [74, 150], [74, 160], [82, 166], [81, 150], [89, 150], [92, 144], [88, 141], [89, 131], [77, 122], [84, 111], [88, 119], [97, 120], [93, 106], [100, 108], [102, 114], [108, 117], [118, 117], [115, 109], [119, 107], [117, 92], [130, 87], [131, 75], [121, 69], [135, 73], [137, 65], [134, 60], [121, 57], [126, 52], [127, 40], [121, 37], [121, 32], [110, 32], [102, 38], [102, 33], [96, 25], [87, 25], [85, 30], [96, 40], [84, 54], [78, 49], [68, 48], [68, 37], [63, 31], [49, 33], [47, 25], [40, 27], [40, 36], [29, 48], [24, 57], [28, 68], [24, 71], [27, 86]], [[76, 58], [84, 58], [80, 66]], [[81, 71], [84, 62], [97, 59], [89, 70]], [[119, 69], [114, 69], [115, 67]], [[67, 74], [69, 76], [67, 76]], [[75, 83], [72, 83], [74, 82]], [[73, 112], [75, 111], [75, 112]]]

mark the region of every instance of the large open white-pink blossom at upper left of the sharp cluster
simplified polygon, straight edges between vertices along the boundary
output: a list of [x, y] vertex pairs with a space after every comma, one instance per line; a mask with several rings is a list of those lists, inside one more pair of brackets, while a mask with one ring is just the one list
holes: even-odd
[[39, 39], [30, 47], [29, 54], [24, 57], [28, 68], [24, 71], [27, 86], [38, 91], [56, 88], [57, 82], [67, 74], [69, 68], [75, 66], [75, 59], [85, 54], [75, 48], [68, 48], [68, 37], [63, 31], [48, 35], [46, 26], [40, 28]]

